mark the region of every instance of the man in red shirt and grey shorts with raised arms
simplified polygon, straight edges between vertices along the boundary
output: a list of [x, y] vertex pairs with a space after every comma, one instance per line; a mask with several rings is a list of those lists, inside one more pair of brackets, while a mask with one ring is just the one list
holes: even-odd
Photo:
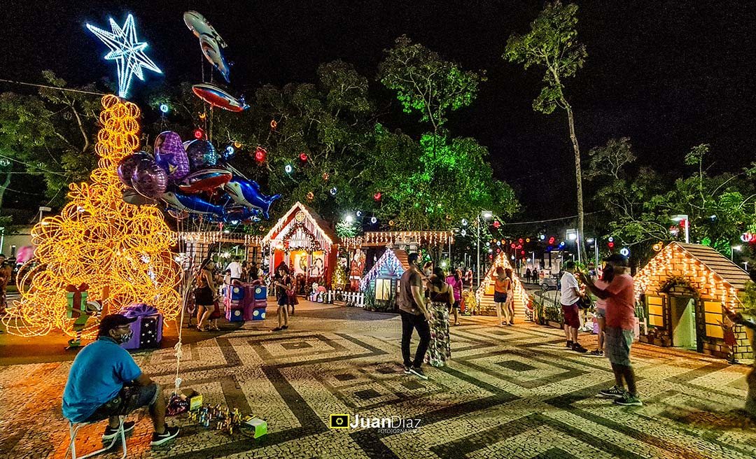
[[[635, 292], [633, 278], [627, 267], [627, 258], [615, 254], [606, 259], [607, 264], [614, 268], [615, 277], [606, 289], [600, 289], [593, 284], [593, 280], [585, 274], [580, 277], [586, 286], [600, 299], [606, 299], [606, 329], [604, 330], [604, 346], [606, 356], [612, 364], [615, 374], [615, 386], [602, 390], [606, 397], [616, 397], [617, 405], [643, 405], [638, 398], [635, 386], [635, 373], [630, 361], [630, 348], [633, 343], [633, 329], [635, 325]], [[627, 383], [627, 390], [624, 389]]]

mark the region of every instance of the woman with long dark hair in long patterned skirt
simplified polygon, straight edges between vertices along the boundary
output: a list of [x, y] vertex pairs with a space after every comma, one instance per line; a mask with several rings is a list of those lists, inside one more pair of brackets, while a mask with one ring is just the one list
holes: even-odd
[[444, 270], [435, 268], [428, 283], [430, 302], [428, 309], [432, 314], [430, 323], [430, 343], [425, 362], [433, 367], [443, 367], [446, 359], [451, 357], [449, 344], [449, 308], [454, 304], [454, 293], [445, 282]]

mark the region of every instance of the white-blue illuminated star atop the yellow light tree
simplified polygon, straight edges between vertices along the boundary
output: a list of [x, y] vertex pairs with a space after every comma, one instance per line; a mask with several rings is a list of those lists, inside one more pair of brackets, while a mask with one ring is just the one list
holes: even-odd
[[142, 67], [152, 70], [155, 73], [163, 73], [155, 63], [144, 54], [144, 48], [147, 48], [147, 42], [137, 41], [137, 33], [134, 26], [134, 17], [129, 14], [123, 26], [119, 26], [115, 20], [110, 19], [110, 29], [113, 32], [100, 29], [87, 24], [87, 29], [94, 33], [98, 39], [101, 39], [110, 52], [105, 54], [106, 60], [115, 60], [118, 66], [118, 95], [126, 98], [129, 94], [129, 86], [132, 84], [132, 77], [144, 81]]

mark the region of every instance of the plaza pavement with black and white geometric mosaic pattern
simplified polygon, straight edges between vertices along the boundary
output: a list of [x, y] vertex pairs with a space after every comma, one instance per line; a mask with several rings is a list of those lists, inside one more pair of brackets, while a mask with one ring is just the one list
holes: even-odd
[[[452, 327], [448, 367], [427, 368], [423, 381], [400, 366], [398, 316], [302, 303], [286, 332], [272, 333], [268, 319], [184, 350], [182, 387], [267, 420], [268, 436], [230, 436], [178, 417], [169, 418], [181, 426], [175, 443], [150, 448], [151, 424], [138, 411], [129, 457], [756, 456], [756, 426], [737, 411], [745, 365], [636, 345], [644, 405], [620, 407], [596, 397], [613, 383], [608, 362], [568, 351], [560, 330], [472, 317]], [[594, 336], [581, 341], [595, 347]], [[172, 349], [135, 359], [172, 387]], [[0, 457], [64, 456], [60, 397], [69, 368], [70, 361], [0, 367]], [[330, 429], [330, 414], [401, 416], [420, 427]], [[100, 444], [103, 428], [82, 429], [80, 453]]]

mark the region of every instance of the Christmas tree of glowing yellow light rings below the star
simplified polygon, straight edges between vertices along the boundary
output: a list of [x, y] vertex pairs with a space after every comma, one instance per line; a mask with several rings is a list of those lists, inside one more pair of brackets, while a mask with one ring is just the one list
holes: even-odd
[[70, 336], [93, 336], [96, 318], [74, 330], [70, 317], [67, 293], [82, 284], [89, 300], [102, 303], [103, 315], [132, 302], [155, 306], [166, 320], [175, 320], [181, 310], [175, 290], [181, 271], [170, 250], [176, 234], [160, 209], [122, 200], [124, 185], [116, 169], [138, 150], [139, 108], [114, 95], [105, 96], [102, 106], [98, 168], [91, 183], [69, 185], [71, 201], [59, 216], [33, 228], [39, 265], [20, 276], [21, 299], [3, 318], [9, 333], [35, 336], [59, 329]]

